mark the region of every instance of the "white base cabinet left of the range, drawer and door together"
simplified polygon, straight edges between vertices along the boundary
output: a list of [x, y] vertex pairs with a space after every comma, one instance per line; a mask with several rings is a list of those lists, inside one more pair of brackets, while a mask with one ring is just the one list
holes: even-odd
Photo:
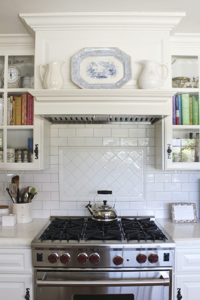
[[31, 249], [0, 249], [1, 300], [33, 300]]

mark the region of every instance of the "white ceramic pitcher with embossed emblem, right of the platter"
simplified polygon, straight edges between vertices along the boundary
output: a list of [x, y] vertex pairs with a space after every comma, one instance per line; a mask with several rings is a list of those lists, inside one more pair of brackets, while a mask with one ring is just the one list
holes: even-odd
[[[141, 60], [144, 69], [139, 79], [139, 87], [142, 89], [160, 89], [162, 82], [164, 82], [168, 77], [168, 67], [164, 63], [158, 63], [154, 60]], [[164, 79], [161, 78], [158, 71], [160, 66], [165, 66], [167, 69], [167, 75]]]

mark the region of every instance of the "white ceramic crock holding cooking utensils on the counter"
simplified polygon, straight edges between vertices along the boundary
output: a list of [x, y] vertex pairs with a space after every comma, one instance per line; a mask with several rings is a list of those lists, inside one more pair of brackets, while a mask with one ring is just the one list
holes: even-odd
[[13, 214], [16, 214], [16, 223], [30, 223], [33, 220], [32, 202], [13, 203]]

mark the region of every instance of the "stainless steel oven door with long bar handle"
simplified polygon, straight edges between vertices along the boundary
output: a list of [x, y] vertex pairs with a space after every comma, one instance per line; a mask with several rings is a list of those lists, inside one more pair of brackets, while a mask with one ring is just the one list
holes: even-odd
[[172, 270], [35, 270], [35, 300], [171, 300]]

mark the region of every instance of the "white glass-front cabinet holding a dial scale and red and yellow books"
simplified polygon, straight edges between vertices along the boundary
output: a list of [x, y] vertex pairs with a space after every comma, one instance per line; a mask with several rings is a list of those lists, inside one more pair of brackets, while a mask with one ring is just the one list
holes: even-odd
[[0, 169], [38, 170], [49, 167], [50, 128], [34, 116], [34, 54], [18, 52], [0, 55]]

